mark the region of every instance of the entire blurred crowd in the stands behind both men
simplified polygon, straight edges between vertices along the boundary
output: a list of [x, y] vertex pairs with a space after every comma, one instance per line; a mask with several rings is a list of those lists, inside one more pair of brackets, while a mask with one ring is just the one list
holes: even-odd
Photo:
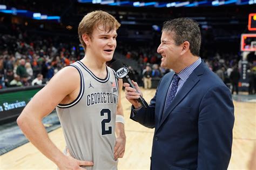
[[[0, 33], [0, 89], [16, 86], [41, 85], [52, 76], [76, 60], [83, 57], [78, 39], [65, 39], [59, 35], [51, 36], [28, 31], [24, 26], [10, 25], [11, 33]], [[149, 44], [124, 44], [117, 46], [118, 52], [127, 59], [136, 60], [137, 68], [130, 66], [131, 77], [145, 89], [156, 88], [158, 81], [169, 69], [160, 67], [161, 56], [156, 52], [158, 42]], [[241, 56], [232, 52], [213, 52], [201, 50], [200, 56], [232, 93], [238, 92], [241, 72]], [[211, 55], [209, 55], [211, 54]], [[248, 64], [248, 93], [255, 94], [256, 61]]]

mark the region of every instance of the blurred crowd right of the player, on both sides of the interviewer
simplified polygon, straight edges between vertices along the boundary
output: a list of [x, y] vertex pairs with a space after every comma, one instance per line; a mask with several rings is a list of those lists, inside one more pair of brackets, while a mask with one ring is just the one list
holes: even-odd
[[[157, 48], [157, 46], [155, 46]], [[136, 49], [136, 46], [128, 47], [124, 52], [126, 58], [137, 60], [142, 74], [136, 74], [135, 80], [144, 89], [156, 88], [154, 81], [158, 83], [169, 69], [160, 67], [161, 56], [157, 54], [154, 47], [143, 47]], [[206, 52], [213, 53], [213, 52]], [[200, 56], [208, 67], [215, 72], [221, 80], [231, 89], [232, 94], [239, 94], [239, 80], [241, 79], [242, 65], [241, 56], [238, 54], [215, 52], [212, 56]], [[131, 68], [132, 69], [132, 68]], [[248, 80], [248, 94], [256, 94], [256, 60], [251, 59], [246, 67], [246, 79]], [[152, 86], [153, 85], [153, 86]]]

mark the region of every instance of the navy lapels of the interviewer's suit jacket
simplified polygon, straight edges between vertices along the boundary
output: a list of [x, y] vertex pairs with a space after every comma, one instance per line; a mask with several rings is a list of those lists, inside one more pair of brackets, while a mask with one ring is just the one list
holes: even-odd
[[[188, 79], [185, 81], [185, 83], [183, 84], [179, 92], [176, 94], [176, 96], [172, 100], [171, 105], [166, 108], [166, 111], [163, 114], [163, 117], [160, 120], [160, 124], [158, 127], [160, 127], [161, 124], [163, 124], [163, 122], [168, 117], [168, 115], [171, 114], [173, 109], [180, 103], [181, 100], [183, 100], [184, 97], [186, 97], [187, 93], [190, 92], [193, 89], [193, 87], [198, 83], [198, 81], [200, 80], [198, 76], [203, 74], [204, 67], [205, 67], [205, 63], [202, 61], [202, 63], [190, 74], [190, 77], [188, 77]], [[165, 101], [163, 103], [165, 104]], [[163, 104], [163, 107], [164, 107], [164, 104]], [[160, 113], [163, 113], [163, 110], [161, 110]]]

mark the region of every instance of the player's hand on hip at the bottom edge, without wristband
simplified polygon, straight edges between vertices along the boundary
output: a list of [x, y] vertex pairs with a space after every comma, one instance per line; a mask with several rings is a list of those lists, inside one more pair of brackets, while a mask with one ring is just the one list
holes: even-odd
[[73, 158], [69, 152], [69, 149], [66, 149], [65, 160], [63, 160], [63, 164], [59, 167], [60, 170], [64, 169], [72, 169], [72, 170], [82, 170], [86, 168], [82, 168], [81, 166], [93, 166], [93, 162], [90, 161], [81, 161]]

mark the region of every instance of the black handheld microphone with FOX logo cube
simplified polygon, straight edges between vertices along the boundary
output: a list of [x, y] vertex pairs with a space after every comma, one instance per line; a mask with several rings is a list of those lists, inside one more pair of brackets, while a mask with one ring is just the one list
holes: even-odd
[[[114, 71], [116, 71], [116, 78], [120, 79], [122, 78], [124, 80], [124, 82], [130, 84], [130, 87], [132, 87], [133, 89], [135, 89], [137, 91], [137, 93], [139, 93], [139, 91], [136, 89], [136, 87], [133, 85], [130, 77], [127, 75], [129, 73], [129, 69], [128, 67], [124, 66], [120, 60], [115, 60], [112, 64], [112, 69]], [[140, 96], [138, 99], [140, 104], [142, 104], [142, 106], [144, 108], [149, 107], [149, 105], [147, 105], [146, 101], [144, 100], [144, 98], [142, 96]]]

